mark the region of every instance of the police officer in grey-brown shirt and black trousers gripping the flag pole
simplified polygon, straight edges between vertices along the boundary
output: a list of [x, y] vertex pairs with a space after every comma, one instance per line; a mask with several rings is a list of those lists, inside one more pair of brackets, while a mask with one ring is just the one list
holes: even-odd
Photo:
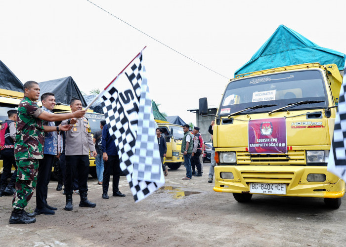
[[[72, 113], [82, 110], [80, 99], [73, 98], [70, 102]], [[94, 143], [92, 142], [91, 129], [87, 118], [69, 119], [61, 124], [72, 124], [71, 130], [66, 132], [65, 160], [66, 160], [66, 183], [65, 210], [72, 210], [72, 183], [76, 171], [78, 171], [78, 188], [81, 196], [79, 206], [95, 207], [96, 204], [87, 200], [87, 177], [89, 176], [89, 150], [96, 156]]]

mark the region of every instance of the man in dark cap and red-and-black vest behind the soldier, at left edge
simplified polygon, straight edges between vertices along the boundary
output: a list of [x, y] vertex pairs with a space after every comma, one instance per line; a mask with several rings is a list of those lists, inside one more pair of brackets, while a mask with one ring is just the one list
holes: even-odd
[[[0, 132], [3, 133], [0, 136], [0, 149], [1, 157], [3, 161], [3, 170], [0, 179], [0, 197], [11, 196], [14, 194], [14, 184], [16, 183], [17, 177], [17, 165], [14, 160], [14, 141], [16, 140], [16, 118], [17, 110], [9, 110], [7, 112], [8, 119], [1, 125]], [[12, 165], [16, 168], [11, 176]], [[7, 183], [7, 178], [11, 176], [11, 180]]]

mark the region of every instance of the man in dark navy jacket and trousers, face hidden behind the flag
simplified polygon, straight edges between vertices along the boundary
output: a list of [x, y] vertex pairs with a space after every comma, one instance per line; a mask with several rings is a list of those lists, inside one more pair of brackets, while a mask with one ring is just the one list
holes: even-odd
[[120, 162], [115, 146], [115, 142], [109, 134], [108, 126], [105, 124], [102, 129], [102, 152], [103, 152], [103, 181], [102, 181], [102, 198], [108, 199], [108, 186], [109, 177], [111, 170], [113, 170], [113, 196], [114, 197], [125, 197], [123, 193], [119, 191], [119, 180], [120, 180]]

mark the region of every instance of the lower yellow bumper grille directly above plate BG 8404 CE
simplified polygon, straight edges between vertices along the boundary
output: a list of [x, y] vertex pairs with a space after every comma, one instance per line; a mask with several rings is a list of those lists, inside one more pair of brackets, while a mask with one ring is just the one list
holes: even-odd
[[250, 183], [287, 183], [289, 184], [294, 172], [251, 172], [243, 171], [245, 182]]

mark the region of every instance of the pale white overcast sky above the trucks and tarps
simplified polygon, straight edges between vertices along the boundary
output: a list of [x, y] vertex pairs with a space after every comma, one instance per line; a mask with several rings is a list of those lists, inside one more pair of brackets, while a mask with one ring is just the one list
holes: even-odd
[[[280, 24], [346, 52], [345, 0], [91, 1], [227, 78]], [[218, 105], [228, 81], [87, 0], [0, 0], [0, 23], [0, 60], [23, 83], [72, 76], [88, 94], [146, 45], [151, 97], [160, 111], [196, 124], [186, 110], [197, 109], [201, 97]]]

